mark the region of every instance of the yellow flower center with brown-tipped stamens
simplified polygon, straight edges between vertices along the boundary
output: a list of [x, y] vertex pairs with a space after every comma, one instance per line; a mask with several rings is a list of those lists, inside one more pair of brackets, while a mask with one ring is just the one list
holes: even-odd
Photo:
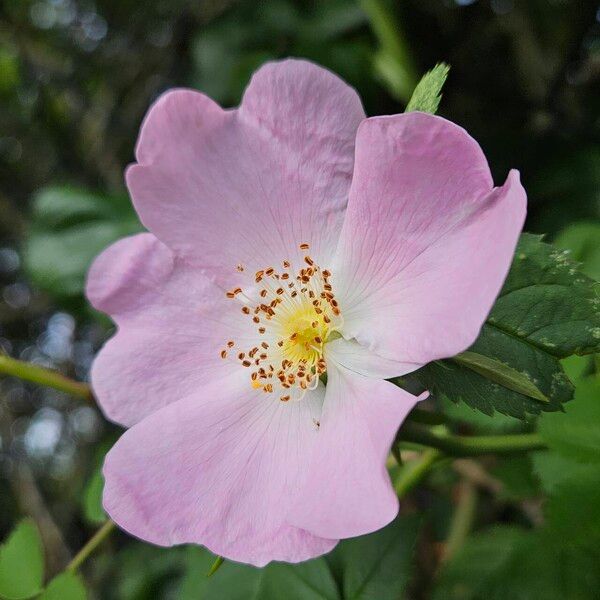
[[[308, 244], [301, 244], [308, 250]], [[280, 400], [300, 400], [314, 389], [327, 365], [323, 348], [333, 331], [342, 325], [342, 316], [329, 282], [331, 273], [304, 256], [304, 264], [294, 272], [290, 261], [282, 269], [266, 267], [254, 275], [248, 289], [235, 288], [227, 297], [240, 302], [241, 312], [252, 320], [256, 344], [234, 350], [227, 342], [221, 357], [230, 354], [250, 370], [250, 384], [265, 393], [277, 393]], [[238, 271], [244, 267], [238, 265]]]

